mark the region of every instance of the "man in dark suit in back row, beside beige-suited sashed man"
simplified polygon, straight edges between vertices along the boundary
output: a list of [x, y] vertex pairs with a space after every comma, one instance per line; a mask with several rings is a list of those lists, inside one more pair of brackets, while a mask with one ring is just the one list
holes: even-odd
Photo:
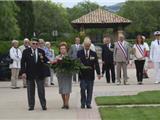
[[112, 75], [112, 83], [115, 83], [115, 66], [113, 61], [114, 45], [111, 44], [111, 38], [105, 36], [103, 38], [104, 45], [102, 46], [102, 75], [106, 71], [107, 83], [110, 83], [110, 71]]

